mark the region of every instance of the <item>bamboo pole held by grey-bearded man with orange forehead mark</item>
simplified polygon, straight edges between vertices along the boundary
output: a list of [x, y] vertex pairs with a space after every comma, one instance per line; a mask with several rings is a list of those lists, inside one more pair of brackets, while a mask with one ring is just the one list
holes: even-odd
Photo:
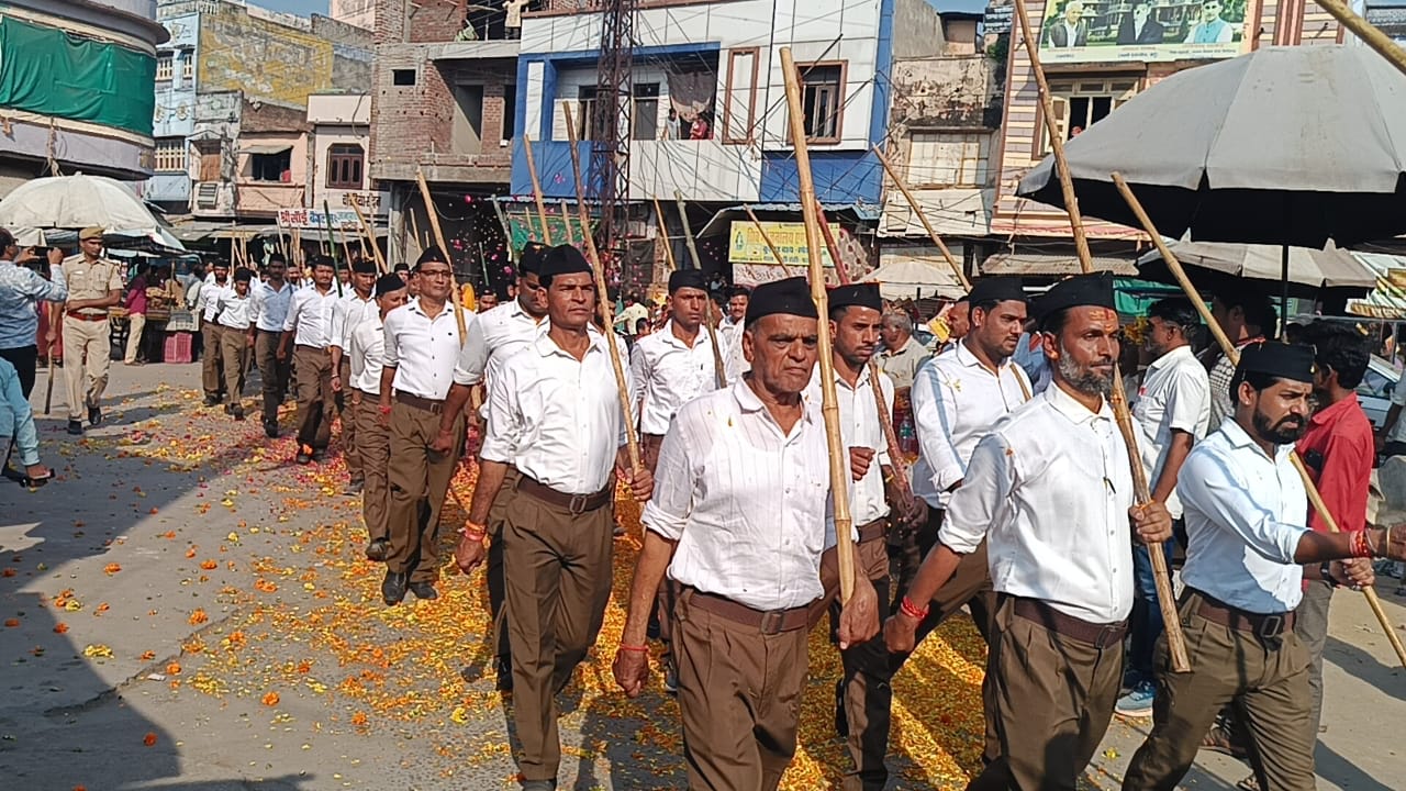
[[[1045, 128], [1050, 138], [1050, 151], [1054, 153], [1056, 172], [1059, 173], [1060, 190], [1064, 194], [1064, 211], [1069, 213], [1069, 225], [1074, 234], [1074, 249], [1078, 251], [1078, 265], [1085, 273], [1094, 270], [1094, 256], [1088, 252], [1088, 238], [1084, 235], [1084, 220], [1078, 211], [1078, 197], [1074, 194], [1074, 177], [1069, 172], [1069, 162], [1064, 159], [1064, 141], [1060, 138], [1054, 124], [1054, 103], [1050, 100], [1050, 86], [1045, 79], [1045, 68], [1040, 66], [1040, 56], [1036, 49], [1035, 34], [1031, 30], [1031, 15], [1025, 10], [1025, 0], [1015, 0], [1015, 13], [1021, 21], [1021, 37], [1025, 39], [1025, 55], [1031, 61], [1031, 70], [1035, 72], [1035, 83], [1039, 86], [1040, 108], [1045, 115]], [[1133, 474], [1133, 497], [1139, 505], [1152, 502], [1152, 490], [1147, 486], [1147, 470], [1142, 466], [1142, 453], [1137, 450], [1137, 434], [1133, 429], [1132, 411], [1128, 408], [1128, 393], [1123, 390], [1123, 374], [1114, 362], [1114, 394], [1108, 400], [1114, 410], [1118, 431], [1123, 435], [1123, 445], [1128, 448], [1128, 466]], [[1189, 673], [1191, 659], [1187, 656], [1187, 639], [1181, 633], [1181, 615], [1177, 612], [1177, 595], [1171, 587], [1171, 571], [1167, 569], [1167, 555], [1161, 549], [1161, 542], [1147, 545], [1147, 556], [1152, 560], [1152, 576], [1157, 586], [1157, 607], [1161, 609], [1161, 621], [1167, 633], [1167, 652], [1171, 654], [1171, 669], [1175, 673]]]

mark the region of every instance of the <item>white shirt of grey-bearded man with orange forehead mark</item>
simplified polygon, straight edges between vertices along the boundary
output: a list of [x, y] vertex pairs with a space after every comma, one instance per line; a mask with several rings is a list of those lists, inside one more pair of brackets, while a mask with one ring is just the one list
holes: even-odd
[[1091, 412], [1052, 384], [977, 443], [938, 540], [965, 555], [986, 538], [997, 593], [1115, 624], [1133, 607], [1132, 507], [1108, 401]]

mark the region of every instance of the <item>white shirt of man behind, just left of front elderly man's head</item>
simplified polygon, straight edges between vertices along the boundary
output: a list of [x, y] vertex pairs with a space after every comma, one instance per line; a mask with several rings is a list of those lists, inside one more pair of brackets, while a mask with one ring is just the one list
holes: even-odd
[[630, 352], [630, 383], [641, 398], [640, 432], [664, 435], [679, 407], [717, 390], [717, 367], [707, 329], [689, 346], [673, 335], [673, 321], [640, 338]]

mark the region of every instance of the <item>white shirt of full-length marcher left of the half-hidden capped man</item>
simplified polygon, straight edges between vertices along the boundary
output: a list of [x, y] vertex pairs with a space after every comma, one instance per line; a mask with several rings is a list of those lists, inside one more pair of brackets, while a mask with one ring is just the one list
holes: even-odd
[[[474, 314], [464, 311], [465, 334], [474, 325]], [[401, 393], [443, 401], [454, 383], [454, 360], [458, 359], [458, 322], [454, 304], [430, 318], [419, 297], [395, 308], [385, 317], [385, 367], [395, 369], [392, 387]]]

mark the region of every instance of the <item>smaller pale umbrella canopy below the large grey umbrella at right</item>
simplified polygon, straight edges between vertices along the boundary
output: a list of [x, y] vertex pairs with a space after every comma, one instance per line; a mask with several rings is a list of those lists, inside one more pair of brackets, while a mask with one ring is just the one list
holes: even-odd
[[[1284, 249], [1278, 245], [1168, 242], [1167, 246], [1187, 267], [1191, 280], [1212, 293], [1246, 279], [1263, 280], [1268, 289], [1271, 283], [1281, 283], [1284, 274]], [[1376, 273], [1348, 251], [1288, 248], [1288, 253], [1289, 293], [1295, 297], [1316, 297], [1324, 290], [1357, 297], [1376, 286]], [[1177, 281], [1156, 249], [1137, 259], [1137, 276], [1159, 283]]]

